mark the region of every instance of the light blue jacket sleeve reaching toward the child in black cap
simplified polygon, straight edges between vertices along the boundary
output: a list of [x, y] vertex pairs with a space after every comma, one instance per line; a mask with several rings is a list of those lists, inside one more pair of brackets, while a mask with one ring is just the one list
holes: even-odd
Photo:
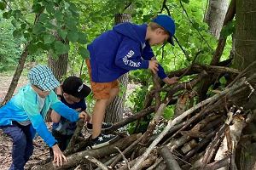
[[59, 99], [57, 99], [56, 94], [54, 94], [54, 101], [52, 105], [50, 105], [50, 108], [59, 113], [61, 116], [65, 117], [70, 122], [77, 122], [79, 120], [79, 113], [63, 104]]

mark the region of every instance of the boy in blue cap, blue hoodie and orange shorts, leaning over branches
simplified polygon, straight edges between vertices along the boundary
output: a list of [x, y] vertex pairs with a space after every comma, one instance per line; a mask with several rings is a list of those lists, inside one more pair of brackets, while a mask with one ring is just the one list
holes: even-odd
[[177, 77], [169, 78], [164, 69], [154, 60], [151, 46], [170, 42], [174, 45], [175, 24], [165, 14], [155, 17], [148, 25], [122, 23], [113, 30], [102, 33], [88, 45], [90, 60], [86, 60], [90, 73], [90, 84], [96, 104], [92, 113], [93, 149], [110, 144], [117, 136], [102, 134], [105, 110], [113, 98], [119, 94], [117, 79], [128, 71], [149, 69], [158, 74], [167, 84], [177, 82]]

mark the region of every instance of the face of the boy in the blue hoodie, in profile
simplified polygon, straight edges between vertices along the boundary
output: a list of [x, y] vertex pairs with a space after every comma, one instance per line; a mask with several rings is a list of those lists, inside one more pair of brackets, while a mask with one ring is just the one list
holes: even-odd
[[148, 39], [148, 43], [150, 46], [162, 45], [168, 38], [169, 34], [166, 34], [163, 29], [157, 28], [152, 32], [151, 37]]

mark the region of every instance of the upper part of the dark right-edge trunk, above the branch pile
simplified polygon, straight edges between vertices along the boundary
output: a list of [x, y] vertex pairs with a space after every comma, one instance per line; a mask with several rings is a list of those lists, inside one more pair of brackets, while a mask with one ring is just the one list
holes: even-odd
[[243, 70], [256, 59], [256, 1], [236, 0], [236, 54], [234, 67]]

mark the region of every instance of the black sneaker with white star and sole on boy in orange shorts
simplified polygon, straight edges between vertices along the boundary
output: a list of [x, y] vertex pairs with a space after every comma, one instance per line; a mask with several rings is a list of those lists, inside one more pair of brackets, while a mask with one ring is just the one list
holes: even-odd
[[90, 139], [90, 147], [92, 149], [101, 148], [108, 144], [113, 144], [116, 140], [119, 139], [119, 136], [113, 134], [100, 134], [96, 139]]

